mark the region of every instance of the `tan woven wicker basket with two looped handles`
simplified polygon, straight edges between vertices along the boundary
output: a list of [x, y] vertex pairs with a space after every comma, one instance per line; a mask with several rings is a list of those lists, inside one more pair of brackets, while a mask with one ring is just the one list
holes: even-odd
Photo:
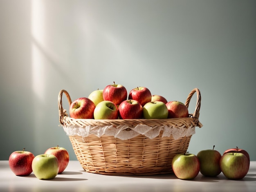
[[[59, 121], [63, 127], [74, 125], [86, 126], [114, 126], [135, 127], [136, 125], [148, 125], [150, 127], [166, 126], [175, 127], [202, 127], [199, 122], [201, 95], [199, 89], [193, 89], [186, 99], [189, 102], [194, 93], [197, 93], [195, 112], [187, 118], [171, 119], [74, 119], [70, 118], [62, 106], [63, 93], [67, 96], [69, 104], [72, 103], [67, 91], [61, 90], [58, 95]], [[130, 130], [127, 129], [127, 131]], [[173, 136], [162, 136], [163, 131], [155, 138], [148, 138], [139, 134], [133, 138], [121, 140], [115, 136], [96, 136], [89, 134], [86, 137], [69, 136], [74, 153], [86, 172], [99, 174], [165, 174], [171, 173], [171, 161], [176, 154], [185, 153], [189, 147], [191, 135], [174, 139]]]

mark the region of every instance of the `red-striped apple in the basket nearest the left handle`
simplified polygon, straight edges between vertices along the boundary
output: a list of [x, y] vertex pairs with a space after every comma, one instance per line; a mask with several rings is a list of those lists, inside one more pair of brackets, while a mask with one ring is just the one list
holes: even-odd
[[93, 118], [95, 104], [89, 98], [81, 97], [74, 100], [70, 104], [70, 117], [71, 118]]

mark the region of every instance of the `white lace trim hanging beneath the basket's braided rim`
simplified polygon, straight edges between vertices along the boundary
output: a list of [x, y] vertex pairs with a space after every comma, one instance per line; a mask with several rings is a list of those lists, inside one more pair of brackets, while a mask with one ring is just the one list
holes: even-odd
[[[68, 136], [82, 136], [86, 137], [89, 134], [94, 134], [98, 137], [102, 135], [114, 136], [115, 138], [119, 138], [121, 140], [126, 140], [138, 136], [139, 134], [145, 135], [148, 138], [152, 139], [159, 135], [159, 133], [163, 130], [163, 137], [169, 137], [173, 135], [173, 138], [176, 140], [180, 137], [191, 136], [195, 134], [195, 126], [191, 125], [191, 127], [172, 127], [172, 126], [156, 126], [150, 127], [148, 125], [137, 125], [136, 127], [127, 127], [127, 125], [120, 126], [118, 128], [110, 126], [86, 126], [79, 127], [75, 125], [61, 125]], [[127, 130], [127, 128], [130, 128]]]

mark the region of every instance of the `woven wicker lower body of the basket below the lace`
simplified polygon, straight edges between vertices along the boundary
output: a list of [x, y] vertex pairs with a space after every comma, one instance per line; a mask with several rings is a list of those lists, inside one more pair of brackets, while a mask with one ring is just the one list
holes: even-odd
[[107, 175], [171, 173], [176, 154], [186, 153], [191, 136], [150, 139], [139, 135], [128, 140], [113, 136], [69, 136], [76, 158], [86, 172]]

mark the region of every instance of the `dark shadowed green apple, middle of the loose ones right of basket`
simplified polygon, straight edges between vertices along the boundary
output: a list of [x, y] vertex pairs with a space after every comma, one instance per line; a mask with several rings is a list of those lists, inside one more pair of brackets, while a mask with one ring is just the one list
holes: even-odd
[[220, 174], [220, 152], [214, 150], [202, 150], [198, 152], [197, 157], [200, 162], [200, 172], [204, 176], [217, 176]]

